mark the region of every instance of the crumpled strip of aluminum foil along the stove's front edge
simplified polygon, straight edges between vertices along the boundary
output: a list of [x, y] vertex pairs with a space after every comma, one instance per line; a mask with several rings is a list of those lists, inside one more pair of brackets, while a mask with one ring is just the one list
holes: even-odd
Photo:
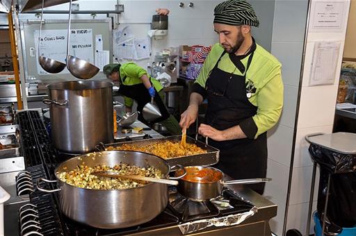
[[241, 224], [245, 219], [252, 217], [252, 215], [256, 214], [258, 211], [257, 207], [251, 208], [248, 212], [238, 213], [238, 214], [230, 214], [226, 217], [216, 217], [211, 219], [200, 219], [197, 221], [191, 221], [184, 224], [179, 224], [179, 230], [183, 235], [188, 233], [197, 232], [204, 228], [208, 228], [211, 226], [223, 227], [223, 226], [235, 226], [237, 224]]

